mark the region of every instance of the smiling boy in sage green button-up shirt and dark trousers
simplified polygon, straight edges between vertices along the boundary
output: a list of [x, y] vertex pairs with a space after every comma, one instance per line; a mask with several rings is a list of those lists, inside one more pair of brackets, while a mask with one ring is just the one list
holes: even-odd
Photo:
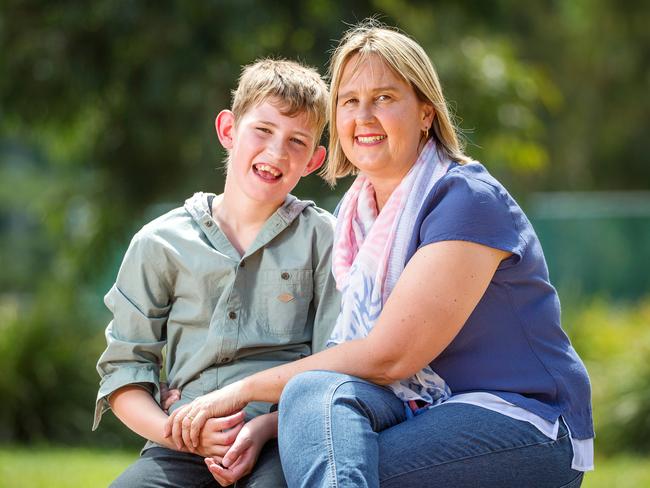
[[[323, 348], [339, 308], [333, 218], [289, 192], [323, 163], [326, 104], [327, 87], [311, 68], [284, 60], [244, 68], [232, 111], [215, 121], [228, 151], [223, 194], [197, 193], [133, 238], [105, 298], [114, 318], [97, 364], [93, 428], [111, 408], [150, 442], [112, 486], [208, 486], [212, 473], [227, 485], [258, 454], [237, 486], [284, 484], [277, 445], [262, 449], [277, 432], [268, 404], [211, 419], [196, 452], [179, 452], [163, 437], [159, 371], [166, 347], [170, 387], [182, 391], [173, 410]], [[253, 420], [244, 424], [244, 415]], [[250, 447], [219, 466], [237, 442]]]

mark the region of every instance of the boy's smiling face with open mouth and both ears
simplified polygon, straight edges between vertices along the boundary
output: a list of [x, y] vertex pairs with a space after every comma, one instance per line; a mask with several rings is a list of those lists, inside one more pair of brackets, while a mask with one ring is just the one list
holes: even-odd
[[226, 188], [265, 205], [280, 206], [300, 177], [325, 159], [324, 147], [314, 149], [315, 130], [307, 114], [283, 115], [268, 100], [249, 109], [237, 125], [233, 113], [224, 110], [215, 125], [229, 152]]

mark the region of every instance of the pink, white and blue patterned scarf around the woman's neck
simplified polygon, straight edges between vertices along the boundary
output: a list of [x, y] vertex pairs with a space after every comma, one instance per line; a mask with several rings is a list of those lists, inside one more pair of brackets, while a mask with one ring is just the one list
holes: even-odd
[[[420, 207], [449, 164], [430, 139], [381, 212], [372, 183], [363, 173], [346, 192], [339, 208], [332, 262], [336, 287], [342, 293], [341, 311], [328, 345], [368, 335], [404, 270]], [[416, 401], [431, 406], [451, 394], [428, 366], [389, 386], [413, 410]]]

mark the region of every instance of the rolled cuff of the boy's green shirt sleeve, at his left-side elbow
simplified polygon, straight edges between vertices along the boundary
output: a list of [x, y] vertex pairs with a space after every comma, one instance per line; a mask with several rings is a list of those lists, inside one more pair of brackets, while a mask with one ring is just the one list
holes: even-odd
[[[160, 376], [158, 367], [152, 365], [120, 368], [118, 371], [102, 378], [99, 391], [97, 392], [97, 401], [95, 402], [92, 430], [97, 429], [102, 415], [111, 408], [108, 403], [108, 397], [115, 390], [132, 384], [137, 384], [142, 388], [148, 389], [156, 401], [160, 401]], [[152, 388], [147, 388], [148, 385], [151, 385]]]

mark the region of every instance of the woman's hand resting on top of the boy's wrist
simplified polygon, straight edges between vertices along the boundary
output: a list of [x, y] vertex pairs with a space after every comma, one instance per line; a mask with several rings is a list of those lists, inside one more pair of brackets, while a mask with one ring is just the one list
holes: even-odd
[[163, 435], [172, 436], [178, 450], [195, 450], [208, 419], [232, 414], [246, 406], [248, 402], [243, 399], [242, 386], [242, 382], [238, 381], [178, 408], [167, 419]]

